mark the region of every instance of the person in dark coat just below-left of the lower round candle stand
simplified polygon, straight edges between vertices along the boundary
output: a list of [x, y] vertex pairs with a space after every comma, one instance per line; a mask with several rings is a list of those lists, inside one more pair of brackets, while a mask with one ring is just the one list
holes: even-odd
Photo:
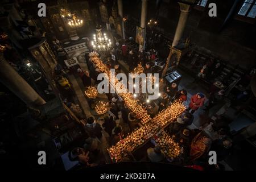
[[85, 131], [88, 133], [89, 137], [92, 137], [92, 138], [97, 137], [99, 139], [102, 137], [101, 125], [95, 122], [93, 117], [88, 118], [87, 124], [85, 126]]

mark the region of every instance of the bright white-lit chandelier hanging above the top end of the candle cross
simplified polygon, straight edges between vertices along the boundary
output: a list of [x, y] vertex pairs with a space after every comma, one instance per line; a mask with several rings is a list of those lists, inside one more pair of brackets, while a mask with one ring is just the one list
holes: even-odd
[[112, 44], [111, 40], [106, 36], [106, 34], [104, 33], [103, 35], [101, 32], [101, 26], [97, 26], [96, 34], [93, 35], [92, 46], [98, 51], [108, 51]]

